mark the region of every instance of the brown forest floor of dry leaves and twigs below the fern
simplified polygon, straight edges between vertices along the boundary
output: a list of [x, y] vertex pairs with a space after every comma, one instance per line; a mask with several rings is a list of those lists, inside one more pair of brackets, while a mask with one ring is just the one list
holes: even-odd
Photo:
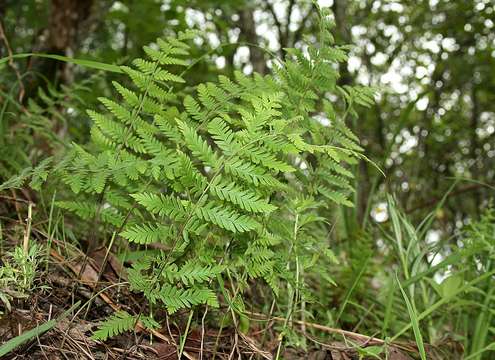
[[[43, 237], [43, 234], [38, 235]], [[166, 319], [161, 329], [150, 332], [137, 323], [132, 333], [114, 336], [105, 342], [96, 341], [91, 337], [92, 332], [109, 315], [117, 310], [129, 313], [147, 311], [148, 305], [141, 295], [129, 291], [122, 263], [105, 248], [84, 254], [73, 245], [53, 240], [48, 259], [30, 296], [16, 299], [11, 303], [10, 312], [4, 311], [0, 318], [0, 342], [5, 344], [22, 334], [27, 336], [30, 329], [39, 329], [42, 324], [55, 319], [53, 326], [44, 333], [29, 336], [3, 359], [172, 360], [178, 359], [179, 353], [182, 359], [190, 360], [276, 358], [279, 334], [274, 324], [284, 320], [281, 318], [253, 322], [249, 332], [243, 333], [232, 325], [208, 328], [211, 325], [205, 326], [205, 317], [201, 321], [201, 316], [196, 323], [203, 326], [191, 325], [188, 328], [187, 312], [174, 314], [173, 322], [168, 321], [165, 313], [157, 312], [157, 318]], [[73, 311], [67, 313], [71, 307]], [[223, 310], [229, 311], [226, 305]], [[260, 315], [253, 313], [253, 317]], [[321, 338], [313, 339], [307, 334], [305, 350], [287, 347], [279, 354], [280, 359], [366, 359], [370, 357], [366, 357], [360, 348], [372, 351], [376, 345], [384, 344], [383, 340], [350, 331], [312, 323], [299, 325], [304, 325], [301, 331], [316, 327], [328, 333], [329, 340], [322, 342]], [[182, 334], [185, 333], [188, 335], [184, 340]], [[335, 335], [343, 340], [334, 340]], [[390, 344], [387, 358], [415, 359], [416, 345], [413, 341]]]

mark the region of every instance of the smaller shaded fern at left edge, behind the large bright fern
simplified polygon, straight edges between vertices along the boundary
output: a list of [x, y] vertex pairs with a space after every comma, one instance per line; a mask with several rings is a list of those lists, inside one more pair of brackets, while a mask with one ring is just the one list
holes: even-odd
[[[89, 91], [87, 85], [91, 81], [87, 79], [70, 87], [62, 85], [59, 89], [51, 84], [46, 90], [40, 87], [25, 105], [12, 96], [15, 87], [9, 93], [0, 89], [0, 184], [16, 178], [15, 187], [21, 186], [33, 173], [33, 169], [27, 168], [41, 164], [47, 154], [59, 152], [67, 135], [79, 135], [74, 131], [79, 126], [71, 126], [75, 134], [66, 134], [68, 122], [83, 123], [77, 110], [83, 105], [80, 96]], [[36, 189], [46, 175], [42, 178], [35, 181]]]

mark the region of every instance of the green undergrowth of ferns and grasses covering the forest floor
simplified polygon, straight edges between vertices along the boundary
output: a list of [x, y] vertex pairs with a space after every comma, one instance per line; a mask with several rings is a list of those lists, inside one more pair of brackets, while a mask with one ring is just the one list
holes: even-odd
[[375, 92], [338, 85], [348, 47], [327, 16], [267, 76], [189, 84], [197, 34], [157, 40], [87, 111], [88, 142], [72, 127], [85, 84], [40, 90], [43, 107], [2, 93], [2, 318], [52, 299], [62, 268], [80, 282], [57, 305], [89, 289], [77, 315], [98, 323], [94, 344], [127, 332], [176, 358], [490, 358], [493, 210], [431, 242], [443, 200], [412, 224], [388, 196], [387, 223], [341, 236], [368, 161], [346, 122]]

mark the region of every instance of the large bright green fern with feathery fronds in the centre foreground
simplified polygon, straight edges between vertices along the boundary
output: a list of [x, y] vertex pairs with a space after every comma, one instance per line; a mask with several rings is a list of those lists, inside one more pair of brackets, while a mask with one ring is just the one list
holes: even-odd
[[[351, 205], [345, 164], [361, 147], [337, 113], [352, 114], [372, 93], [337, 86], [346, 49], [331, 45], [328, 23], [323, 14], [319, 46], [289, 50], [272, 75], [236, 72], [192, 88], [183, 75], [198, 34], [159, 39], [144, 47], [146, 59], [122, 67], [130, 86], [114, 82], [118, 99], [88, 111], [92, 143], [74, 146], [64, 175], [78, 196], [58, 204], [98, 219], [134, 249], [161, 243], [166, 250], [129, 270], [131, 288], [151, 304], [170, 313], [216, 307], [212, 284], [225, 271], [262, 277], [277, 291], [290, 277], [277, 250], [287, 254], [290, 199]], [[332, 94], [343, 95], [336, 109]], [[319, 254], [325, 246], [313, 240], [300, 248]]]

